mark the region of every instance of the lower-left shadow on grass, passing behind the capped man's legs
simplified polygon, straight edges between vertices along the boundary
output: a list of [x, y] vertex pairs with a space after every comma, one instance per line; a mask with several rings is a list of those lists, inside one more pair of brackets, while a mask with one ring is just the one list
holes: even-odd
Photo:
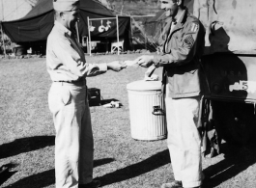
[[[94, 167], [98, 167], [100, 165], [104, 165], [107, 163], [110, 163], [114, 161], [112, 158], [104, 158], [94, 161]], [[10, 175], [14, 175], [16, 172], [8, 172]], [[12, 176], [11, 175], [11, 176]], [[8, 178], [10, 178], [9, 176]], [[7, 178], [7, 179], [8, 179]], [[5, 181], [7, 180], [5, 179]], [[4, 181], [1, 181], [1, 184], [3, 184]], [[0, 184], [0, 185], [1, 185]], [[49, 171], [44, 171], [43, 173], [39, 173], [37, 175], [30, 175], [23, 179], [20, 179], [14, 184], [8, 185], [5, 188], [28, 188], [28, 187], [37, 187], [37, 188], [43, 188], [49, 185], [55, 184], [55, 170], [51, 169]]]

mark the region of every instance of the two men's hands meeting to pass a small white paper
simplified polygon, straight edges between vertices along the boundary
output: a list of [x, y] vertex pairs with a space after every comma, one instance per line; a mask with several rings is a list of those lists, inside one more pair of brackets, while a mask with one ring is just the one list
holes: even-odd
[[154, 64], [153, 55], [143, 55], [133, 61], [125, 61], [125, 62], [114, 61], [114, 62], [107, 63], [107, 69], [120, 71], [126, 67], [135, 67], [135, 66], [150, 67], [153, 64]]

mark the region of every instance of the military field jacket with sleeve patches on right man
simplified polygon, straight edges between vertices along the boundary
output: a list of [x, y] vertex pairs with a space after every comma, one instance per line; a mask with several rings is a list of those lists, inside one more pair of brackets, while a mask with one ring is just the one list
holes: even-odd
[[169, 90], [172, 98], [197, 96], [201, 93], [199, 67], [205, 29], [186, 9], [172, 31], [173, 20], [166, 22], [160, 39], [164, 41], [162, 53], [154, 56], [155, 66], [163, 67], [163, 90]]

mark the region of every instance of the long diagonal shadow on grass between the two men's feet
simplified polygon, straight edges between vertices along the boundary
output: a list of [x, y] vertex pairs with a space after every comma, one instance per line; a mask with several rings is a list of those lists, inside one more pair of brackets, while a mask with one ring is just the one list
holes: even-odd
[[97, 179], [101, 181], [101, 186], [105, 186], [127, 180], [138, 175], [146, 174], [168, 163], [170, 163], [169, 151], [168, 149], [165, 149], [147, 158], [144, 161], [130, 165], [124, 169], [120, 169], [113, 173], [103, 175], [101, 177], [98, 177]]

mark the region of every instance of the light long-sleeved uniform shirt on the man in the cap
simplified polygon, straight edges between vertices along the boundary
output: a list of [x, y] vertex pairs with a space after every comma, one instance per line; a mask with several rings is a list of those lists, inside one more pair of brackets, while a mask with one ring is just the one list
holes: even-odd
[[88, 64], [71, 31], [55, 21], [47, 38], [46, 67], [51, 80], [77, 81], [107, 70], [106, 64]]

